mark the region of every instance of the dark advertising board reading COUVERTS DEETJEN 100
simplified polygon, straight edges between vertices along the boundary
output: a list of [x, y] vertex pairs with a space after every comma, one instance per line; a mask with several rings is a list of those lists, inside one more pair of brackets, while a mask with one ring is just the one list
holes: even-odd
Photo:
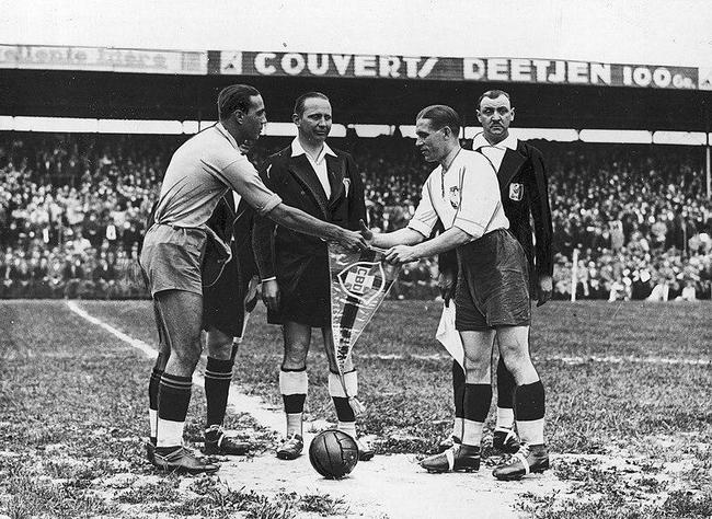
[[697, 89], [698, 69], [551, 59], [210, 51], [208, 72]]

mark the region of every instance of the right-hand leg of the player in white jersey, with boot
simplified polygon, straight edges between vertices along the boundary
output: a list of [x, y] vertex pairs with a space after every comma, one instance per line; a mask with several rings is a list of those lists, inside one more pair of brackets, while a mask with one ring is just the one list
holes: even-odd
[[529, 326], [497, 330], [499, 351], [517, 388], [514, 413], [521, 446], [512, 459], [493, 471], [498, 480], [520, 480], [549, 469], [544, 442], [544, 388], [529, 357]]

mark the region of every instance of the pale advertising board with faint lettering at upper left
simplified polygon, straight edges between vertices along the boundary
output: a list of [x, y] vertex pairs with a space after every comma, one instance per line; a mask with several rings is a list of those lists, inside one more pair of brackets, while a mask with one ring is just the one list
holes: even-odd
[[205, 74], [207, 53], [0, 45], [0, 69]]

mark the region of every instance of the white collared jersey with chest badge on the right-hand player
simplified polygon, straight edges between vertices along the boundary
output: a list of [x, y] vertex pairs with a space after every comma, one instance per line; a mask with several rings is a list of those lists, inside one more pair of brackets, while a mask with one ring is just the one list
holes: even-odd
[[497, 174], [482, 154], [460, 150], [445, 174], [438, 165], [425, 181], [421, 203], [407, 227], [428, 238], [438, 220], [446, 230], [457, 227], [472, 240], [509, 228]]

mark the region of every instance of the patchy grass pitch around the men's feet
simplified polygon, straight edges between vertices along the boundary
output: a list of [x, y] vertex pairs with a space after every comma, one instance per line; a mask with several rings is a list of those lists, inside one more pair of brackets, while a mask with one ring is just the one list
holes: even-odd
[[[80, 304], [156, 343], [148, 302]], [[712, 305], [704, 302], [550, 302], [537, 309], [532, 356], [547, 389], [547, 436], [560, 454], [553, 470], [571, 483], [571, 493], [531, 496], [524, 515], [712, 516], [710, 315]], [[438, 303], [388, 301], [355, 347], [359, 400], [367, 404], [361, 423], [378, 436], [381, 453], [430, 452], [449, 434], [451, 361], [434, 339], [438, 318]], [[158, 478], [140, 442], [149, 359], [61, 301], [5, 301], [0, 326], [0, 514], [345, 514], [326, 496], [269, 498], [226, 491], [209, 477]], [[319, 335], [310, 354], [309, 413], [335, 420]], [[233, 380], [279, 404], [280, 357], [280, 331], [265, 324], [260, 305]], [[197, 436], [204, 414], [196, 391], [190, 437]], [[273, 445], [274, 437], [249, 416], [231, 417], [228, 425], [249, 431], [264, 449]], [[137, 475], [149, 483], [137, 487]]]

